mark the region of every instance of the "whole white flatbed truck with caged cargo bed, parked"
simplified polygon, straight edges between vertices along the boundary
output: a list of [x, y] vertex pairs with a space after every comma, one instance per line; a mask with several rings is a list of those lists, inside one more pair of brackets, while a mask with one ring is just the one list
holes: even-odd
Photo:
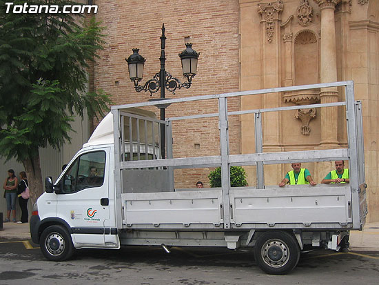
[[[345, 90], [346, 100], [227, 110], [232, 97], [330, 87]], [[296, 266], [305, 248], [339, 250], [349, 230], [362, 230], [367, 215], [362, 114], [352, 81], [167, 99], [158, 107], [180, 108], [183, 102], [202, 100], [217, 101], [218, 112], [161, 121], [139, 109], [156, 101], [112, 106], [57, 181], [46, 179], [30, 220], [32, 240], [43, 255], [62, 261], [80, 248], [123, 245], [156, 245], [167, 251], [169, 246], [254, 247], [258, 266], [279, 275]], [[334, 106], [346, 110], [348, 148], [263, 153], [263, 113]], [[255, 153], [230, 155], [228, 118], [245, 114], [255, 118]], [[173, 123], [201, 118], [218, 118], [220, 146], [215, 148], [220, 155], [173, 158]], [[159, 144], [160, 130], [165, 148]], [[266, 164], [342, 159], [349, 160], [349, 184], [280, 188], [264, 183]], [[221, 188], [175, 188], [175, 169], [215, 166], [221, 166]], [[255, 166], [256, 186], [230, 187], [230, 166]]]

